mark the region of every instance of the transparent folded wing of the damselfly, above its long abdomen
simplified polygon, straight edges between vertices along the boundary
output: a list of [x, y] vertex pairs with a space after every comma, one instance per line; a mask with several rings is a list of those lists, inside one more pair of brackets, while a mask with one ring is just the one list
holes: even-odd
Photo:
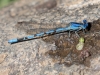
[[48, 23], [34, 23], [34, 22], [18, 22], [15, 25], [17, 31], [25, 32], [26, 34], [36, 34], [46, 32], [48, 30], [55, 30], [56, 28], [66, 27], [64, 24], [48, 24]]

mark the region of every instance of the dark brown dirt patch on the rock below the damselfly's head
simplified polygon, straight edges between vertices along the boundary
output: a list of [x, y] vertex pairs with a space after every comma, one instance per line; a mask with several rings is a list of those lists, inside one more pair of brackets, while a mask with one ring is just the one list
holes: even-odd
[[[89, 28], [86, 34], [82, 33], [82, 31], [79, 33], [85, 39], [85, 46], [81, 51], [76, 50], [79, 37], [74, 33], [72, 33], [71, 37], [68, 36], [68, 32], [65, 32], [43, 38], [45, 42], [55, 43], [57, 46], [57, 50], [48, 51], [46, 55], [49, 54], [52, 59], [58, 59], [59, 64], [65, 64], [66, 66], [84, 64], [89, 67], [90, 59], [100, 54], [100, 20], [89, 23]], [[88, 56], [83, 54], [84, 52]]]

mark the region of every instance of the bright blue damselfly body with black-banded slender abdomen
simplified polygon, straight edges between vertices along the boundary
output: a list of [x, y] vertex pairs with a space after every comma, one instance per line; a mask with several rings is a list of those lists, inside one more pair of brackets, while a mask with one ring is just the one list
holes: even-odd
[[11, 39], [11, 40], [8, 41], [8, 43], [13, 44], [13, 43], [27, 41], [27, 40], [31, 40], [31, 39], [37, 39], [37, 38], [40, 38], [40, 37], [44, 37], [44, 36], [52, 35], [52, 34], [57, 34], [57, 33], [65, 32], [65, 31], [69, 32], [69, 36], [70, 36], [71, 31], [74, 31], [76, 33], [76, 35], [78, 35], [77, 34], [78, 31], [83, 30], [83, 32], [84, 32], [84, 30], [87, 27], [88, 27], [87, 20], [83, 20], [83, 23], [70, 22], [69, 26], [67, 26], [67, 27], [56, 28], [54, 30], [49, 30], [47, 32], [41, 32], [41, 33], [38, 33], [38, 34], [26, 36], [26, 37], [23, 37], [23, 38]]

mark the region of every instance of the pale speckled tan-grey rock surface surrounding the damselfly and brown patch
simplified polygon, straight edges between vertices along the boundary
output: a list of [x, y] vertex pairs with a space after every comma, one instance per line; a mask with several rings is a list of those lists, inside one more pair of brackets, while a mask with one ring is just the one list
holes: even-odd
[[[8, 44], [8, 40], [12, 38], [65, 27], [72, 21], [82, 22], [87, 19], [88, 22], [93, 22], [99, 18], [100, 0], [19, 0], [2, 8], [0, 75], [100, 75], [100, 55], [95, 54], [90, 59], [89, 67], [76, 63], [69, 67], [59, 64], [57, 56], [56, 60], [46, 54], [50, 50], [56, 51], [55, 42], [49, 43], [39, 38]], [[100, 26], [100, 23], [97, 25]], [[99, 29], [97, 34], [100, 37]], [[96, 42], [98, 48], [99, 40]]]

